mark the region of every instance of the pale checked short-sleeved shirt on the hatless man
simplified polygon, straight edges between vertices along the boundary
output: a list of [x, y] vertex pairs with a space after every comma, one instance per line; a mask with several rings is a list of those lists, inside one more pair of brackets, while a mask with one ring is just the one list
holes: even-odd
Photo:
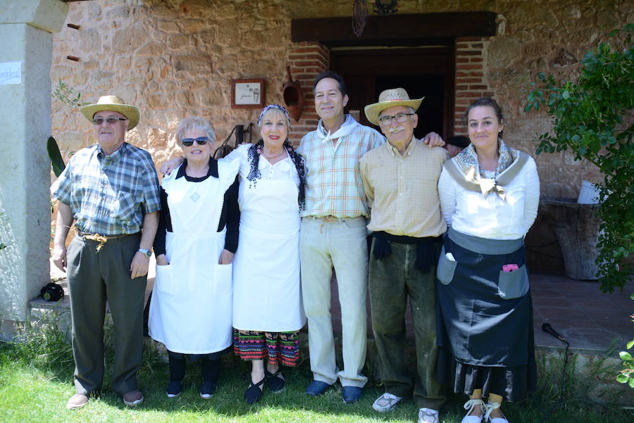
[[302, 217], [360, 217], [369, 215], [359, 159], [366, 151], [385, 142], [385, 138], [351, 116], [344, 125], [354, 125], [351, 132], [336, 142], [323, 136], [323, 124], [304, 135], [297, 153], [306, 160], [306, 208]]

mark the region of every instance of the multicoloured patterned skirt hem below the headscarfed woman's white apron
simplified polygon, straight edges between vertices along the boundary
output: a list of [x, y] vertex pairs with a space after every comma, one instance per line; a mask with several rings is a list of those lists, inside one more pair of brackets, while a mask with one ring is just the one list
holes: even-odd
[[257, 332], [233, 329], [233, 351], [242, 360], [263, 360], [271, 365], [297, 366], [299, 331]]

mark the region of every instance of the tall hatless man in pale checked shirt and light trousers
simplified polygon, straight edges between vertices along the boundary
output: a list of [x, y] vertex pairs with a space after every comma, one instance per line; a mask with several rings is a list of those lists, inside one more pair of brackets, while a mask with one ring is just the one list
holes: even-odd
[[[348, 96], [340, 75], [322, 72], [313, 91], [321, 120], [316, 130], [302, 138], [297, 150], [306, 160], [306, 208], [299, 236], [313, 372], [306, 394], [321, 395], [339, 379], [344, 402], [352, 403], [359, 400], [368, 380], [361, 370], [366, 360], [369, 211], [359, 159], [385, 139], [344, 114]], [[432, 144], [444, 144], [437, 134], [430, 135]], [[330, 318], [333, 267], [341, 305], [343, 370], [335, 363]]]

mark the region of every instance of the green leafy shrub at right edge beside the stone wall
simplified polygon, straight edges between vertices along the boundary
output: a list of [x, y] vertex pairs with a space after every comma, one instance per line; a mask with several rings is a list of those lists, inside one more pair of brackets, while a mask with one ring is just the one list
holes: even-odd
[[552, 133], [537, 136], [537, 153], [570, 149], [575, 160], [588, 160], [604, 176], [599, 184], [597, 276], [604, 292], [623, 287], [633, 269], [634, 253], [634, 25], [611, 34], [581, 61], [576, 81], [557, 81], [539, 73], [524, 111], [546, 108]]

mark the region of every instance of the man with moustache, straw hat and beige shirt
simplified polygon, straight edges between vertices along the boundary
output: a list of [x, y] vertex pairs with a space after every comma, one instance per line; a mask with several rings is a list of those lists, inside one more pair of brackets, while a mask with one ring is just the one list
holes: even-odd
[[438, 178], [447, 151], [428, 148], [414, 137], [416, 110], [423, 99], [410, 99], [402, 88], [387, 89], [366, 117], [387, 137], [387, 144], [359, 161], [373, 232], [368, 291], [374, 339], [385, 393], [372, 407], [393, 410], [412, 389], [405, 360], [405, 309], [409, 296], [414, 320], [416, 367], [414, 400], [418, 423], [438, 423], [445, 402], [435, 379], [437, 357], [435, 275], [442, 234]]

